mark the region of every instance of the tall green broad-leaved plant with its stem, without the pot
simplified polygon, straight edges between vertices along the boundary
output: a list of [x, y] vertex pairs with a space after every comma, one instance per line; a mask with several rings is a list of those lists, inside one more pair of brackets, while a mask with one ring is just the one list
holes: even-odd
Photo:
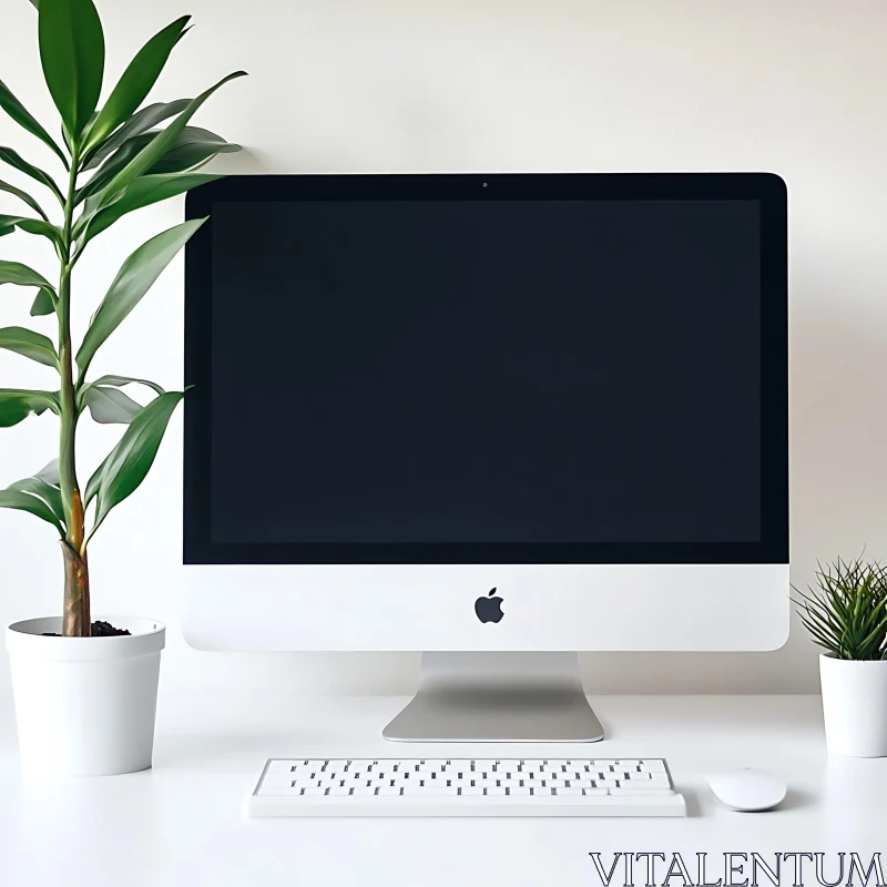
[[[100, 108], [104, 33], [92, 0], [31, 2], [38, 9], [40, 60], [61, 116], [62, 143], [2, 81], [0, 108], [52, 152], [64, 174], [57, 181], [11, 147], [0, 146], [0, 166], [11, 166], [13, 175], [33, 180], [41, 198], [48, 193], [59, 205], [54, 213], [48, 212], [30, 191], [0, 179], [0, 192], [12, 195], [28, 212], [0, 215], [0, 236], [18, 230], [48, 241], [55, 254], [58, 283], [21, 263], [0, 259], [0, 284], [35, 287], [31, 316], [54, 315], [58, 335], [53, 341], [24, 327], [6, 327], [0, 329], [0, 348], [51, 367], [59, 375], [59, 387], [47, 391], [0, 388], [0, 428], [18, 425], [31, 415], [54, 412], [60, 428], [59, 458], [33, 477], [0, 490], [0, 507], [27, 511], [58, 531], [65, 578], [62, 633], [86, 636], [89, 542], [109, 512], [144, 480], [170, 417], [184, 396], [129, 376], [88, 380], [88, 373], [99, 348], [205, 220], [164, 231], [123, 263], [77, 351], [71, 338], [74, 272], [84, 249], [122, 216], [218, 177], [194, 171], [216, 154], [239, 151], [239, 145], [188, 123], [220, 86], [244, 72], [230, 74], [195, 99], [141, 108], [188, 30], [190, 17], [184, 16], [142, 47]], [[142, 406], [122, 390], [129, 385], [142, 386], [155, 397]], [[129, 427], [83, 490], [75, 442], [78, 422], [86, 410], [96, 422]]]

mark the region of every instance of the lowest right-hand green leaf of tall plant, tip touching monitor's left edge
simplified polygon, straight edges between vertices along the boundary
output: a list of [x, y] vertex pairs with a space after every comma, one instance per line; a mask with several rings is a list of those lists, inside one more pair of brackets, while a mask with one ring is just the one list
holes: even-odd
[[[99, 469], [96, 481], [95, 523], [90, 537], [99, 529], [112, 508], [119, 506], [142, 483], [154, 463], [173, 410], [184, 391], [170, 391], [152, 400], [132, 420], [123, 437]], [[90, 486], [93, 481], [90, 480]], [[89, 496], [89, 487], [88, 487]]]

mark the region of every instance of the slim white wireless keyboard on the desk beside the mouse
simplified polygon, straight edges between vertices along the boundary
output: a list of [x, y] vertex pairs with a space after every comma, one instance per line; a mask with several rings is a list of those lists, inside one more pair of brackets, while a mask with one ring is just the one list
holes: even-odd
[[264, 816], [685, 816], [662, 758], [272, 758]]

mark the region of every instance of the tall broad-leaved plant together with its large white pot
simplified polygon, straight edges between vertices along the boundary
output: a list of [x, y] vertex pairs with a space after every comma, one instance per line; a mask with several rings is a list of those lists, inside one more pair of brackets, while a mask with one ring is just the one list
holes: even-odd
[[[53, 337], [23, 326], [0, 329], [0, 348], [45, 365], [45, 390], [0, 388], [0, 428], [55, 414], [58, 459], [0, 490], [0, 507], [26, 511], [55, 530], [64, 564], [62, 615], [7, 630], [22, 763], [42, 771], [111, 774], [151, 765], [164, 626], [145, 619], [92, 621], [88, 550], [110, 512], [145, 479], [183, 391], [122, 375], [92, 378], [93, 357], [135, 308], [202, 221], [175, 225], [140, 246], [120, 268], [75, 345], [71, 302], [78, 263], [128, 213], [216, 179], [196, 173], [238, 145], [188, 125], [230, 74], [194, 99], [142, 108], [170, 54], [188, 30], [187, 16], [152, 37], [100, 105], [104, 34], [92, 0], [31, 0], [38, 9], [40, 60], [61, 118], [57, 141], [0, 81], [0, 108], [42, 143], [60, 175], [0, 146], [0, 167], [32, 180], [34, 193], [0, 176], [0, 192], [24, 215], [0, 215], [0, 236], [20, 231], [45, 241], [55, 274], [43, 276], [0, 258], [0, 284], [35, 288], [30, 313]], [[165, 124], [161, 126], [161, 124]], [[2, 173], [2, 169], [0, 169]], [[48, 205], [49, 204], [49, 205]], [[58, 204], [58, 205], [57, 205]], [[203, 220], [205, 221], [205, 220]], [[2, 256], [2, 249], [0, 249]], [[124, 392], [140, 386], [146, 406]], [[78, 424], [128, 426], [83, 486]], [[113, 623], [113, 624], [112, 624]]]

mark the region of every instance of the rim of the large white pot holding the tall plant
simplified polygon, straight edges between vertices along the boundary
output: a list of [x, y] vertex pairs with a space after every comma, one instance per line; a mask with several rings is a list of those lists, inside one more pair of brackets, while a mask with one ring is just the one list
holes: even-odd
[[156, 619], [101, 615], [105, 622], [131, 634], [109, 638], [48, 638], [44, 632], [60, 632], [61, 616], [24, 619], [7, 626], [7, 650], [39, 659], [95, 661], [131, 659], [157, 653], [166, 645], [166, 626]]

